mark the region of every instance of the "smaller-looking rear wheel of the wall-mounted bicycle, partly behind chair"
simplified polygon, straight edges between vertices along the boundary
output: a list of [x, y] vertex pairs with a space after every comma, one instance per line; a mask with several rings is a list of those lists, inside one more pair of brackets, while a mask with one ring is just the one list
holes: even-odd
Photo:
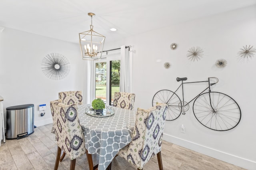
[[158, 91], [152, 100], [152, 105], [155, 106], [156, 102], [168, 104], [168, 109], [166, 112], [166, 121], [172, 121], [180, 116], [182, 111], [182, 106], [179, 106], [180, 98], [170, 90], [160, 90]]

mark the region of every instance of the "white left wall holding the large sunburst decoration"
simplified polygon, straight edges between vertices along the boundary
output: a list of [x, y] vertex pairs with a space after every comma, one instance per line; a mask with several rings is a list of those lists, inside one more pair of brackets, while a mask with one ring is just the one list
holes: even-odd
[[[70, 73], [62, 80], [52, 80], [41, 70], [42, 59], [60, 53], [70, 62]], [[58, 92], [83, 90], [84, 62], [78, 44], [63, 42], [10, 28], [0, 33], [0, 95], [6, 107], [34, 104], [34, 125], [52, 123], [50, 101]], [[38, 106], [46, 104], [40, 117]]]

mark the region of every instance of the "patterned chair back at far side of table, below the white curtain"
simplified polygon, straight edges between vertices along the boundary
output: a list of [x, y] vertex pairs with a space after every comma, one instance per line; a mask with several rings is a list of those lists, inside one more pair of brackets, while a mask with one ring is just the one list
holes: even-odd
[[113, 106], [133, 110], [135, 94], [126, 92], [115, 92]]

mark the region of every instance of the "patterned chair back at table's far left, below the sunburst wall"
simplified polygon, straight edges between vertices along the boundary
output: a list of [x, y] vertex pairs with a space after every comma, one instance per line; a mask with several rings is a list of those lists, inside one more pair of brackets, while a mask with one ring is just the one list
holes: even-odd
[[62, 91], [59, 93], [59, 99], [61, 100], [60, 102], [65, 105], [83, 104], [82, 91]]

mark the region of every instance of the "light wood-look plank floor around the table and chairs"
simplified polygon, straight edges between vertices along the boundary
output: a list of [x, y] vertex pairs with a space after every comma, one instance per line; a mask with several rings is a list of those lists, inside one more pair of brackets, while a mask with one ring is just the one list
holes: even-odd
[[[6, 140], [0, 146], [0, 170], [52, 170], [57, 151], [55, 135], [50, 131], [52, 124], [34, 129], [34, 133], [19, 140]], [[93, 156], [94, 164], [97, 156]], [[242, 170], [243, 168], [205, 156], [198, 152], [163, 141], [162, 161], [164, 170]], [[68, 156], [59, 164], [59, 170], [68, 170]], [[76, 159], [76, 170], [88, 170], [86, 155]], [[144, 170], [157, 170], [155, 156]], [[112, 161], [112, 170], [137, 170], [126, 160], [116, 157]]]

